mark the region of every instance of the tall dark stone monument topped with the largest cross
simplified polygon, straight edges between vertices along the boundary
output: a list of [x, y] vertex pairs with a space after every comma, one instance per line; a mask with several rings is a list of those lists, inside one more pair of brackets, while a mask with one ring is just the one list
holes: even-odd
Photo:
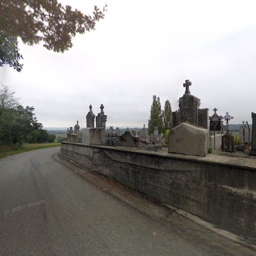
[[185, 83], [183, 83], [183, 87], [185, 87], [186, 90], [185, 94], [179, 99], [180, 109], [172, 113], [173, 127], [183, 122], [190, 122], [208, 130], [208, 109], [199, 109], [201, 104], [200, 99], [191, 95], [189, 91], [189, 86], [191, 85], [189, 80], [185, 80]]

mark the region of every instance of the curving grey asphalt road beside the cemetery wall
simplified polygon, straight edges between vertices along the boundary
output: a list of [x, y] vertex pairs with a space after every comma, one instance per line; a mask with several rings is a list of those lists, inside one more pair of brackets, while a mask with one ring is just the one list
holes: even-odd
[[187, 219], [143, 214], [58, 153], [0, 161], [0, 255], [255, 255]]

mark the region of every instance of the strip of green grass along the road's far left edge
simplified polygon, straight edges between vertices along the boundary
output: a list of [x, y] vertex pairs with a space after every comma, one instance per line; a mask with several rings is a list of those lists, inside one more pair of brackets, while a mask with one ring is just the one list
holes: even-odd
[[15, 145], [0, 145], [0, 158], [31, 151], [38, 150], [39, 148], [60, 146], [59, 142], [56, 143], [38, 143], [38, 144], [23, 144], [21, 147]]

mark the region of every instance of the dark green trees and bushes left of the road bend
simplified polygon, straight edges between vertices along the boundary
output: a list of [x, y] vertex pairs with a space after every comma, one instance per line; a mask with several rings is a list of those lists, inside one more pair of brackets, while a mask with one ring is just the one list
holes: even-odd
[[19, 104], [8, 86], [0, 85], [0, 143], [18, 144], [54, 142], [55, 135], [42, 129], [33, 106]]

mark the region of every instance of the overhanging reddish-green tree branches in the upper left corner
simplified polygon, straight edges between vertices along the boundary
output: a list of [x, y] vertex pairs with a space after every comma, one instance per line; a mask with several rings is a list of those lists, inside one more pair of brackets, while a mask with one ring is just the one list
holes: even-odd
[[104, 17], [106, 5], [100, 11], [94, 6], [93, 15], [85, 15], [62, 6], [57, 0], [1, 0], [0, 1], [0, 66], [9, 64], [18, 72], [22, 69], [17, 38], [34, 45], [44, 41], [44, 47], [55, 52], [71, 48], [77, 33], [94, 30]]

